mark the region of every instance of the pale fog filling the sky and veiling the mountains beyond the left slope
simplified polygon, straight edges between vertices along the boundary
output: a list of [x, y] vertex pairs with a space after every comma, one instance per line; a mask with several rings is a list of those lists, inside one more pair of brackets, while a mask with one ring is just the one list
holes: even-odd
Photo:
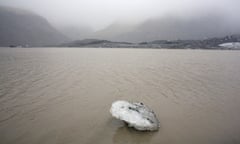
[[72, 40], [205, 39], [240, 33], [239, 0], [1, 0], [34, 11]]

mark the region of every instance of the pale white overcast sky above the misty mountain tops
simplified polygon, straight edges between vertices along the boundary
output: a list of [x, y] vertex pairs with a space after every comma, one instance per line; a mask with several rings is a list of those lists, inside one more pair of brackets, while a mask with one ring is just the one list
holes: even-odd
[[137, 23], [166, 15], [189, 18], [219, 13], [235, 17], [240, 13], [240, 0], [0, 0], [0, 5], [34, 11], [54, 25], [94, 29], [113, 22]]

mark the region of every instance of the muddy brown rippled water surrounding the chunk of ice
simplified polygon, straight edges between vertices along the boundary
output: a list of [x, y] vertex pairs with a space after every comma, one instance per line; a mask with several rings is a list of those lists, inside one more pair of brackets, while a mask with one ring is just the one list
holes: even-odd
[[[160, 120], [111, 117], [139, 101]], [[1, 144], [240, 143], [240, 51], [0, 49]]]

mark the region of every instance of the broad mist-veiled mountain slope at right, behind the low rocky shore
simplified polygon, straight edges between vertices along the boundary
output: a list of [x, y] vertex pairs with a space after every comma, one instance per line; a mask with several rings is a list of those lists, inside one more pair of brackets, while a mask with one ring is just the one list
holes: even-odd
[[[237, 16], [236, 16], [237, 17]], [[114, 33], [123, 27], [108, 27], [101, 31], [103, 39], [113, 41], [142, 42], [153, 40], [201, 40], [240, 33], [240, 22], [219, 14], [209, 14], [188, 19], [168, 16], [151, 19], [132, 27], [129, 31]], [[110, 31], [110, 32], [109, 32]], [[110, 33], [110, 34], [109, 34]]]

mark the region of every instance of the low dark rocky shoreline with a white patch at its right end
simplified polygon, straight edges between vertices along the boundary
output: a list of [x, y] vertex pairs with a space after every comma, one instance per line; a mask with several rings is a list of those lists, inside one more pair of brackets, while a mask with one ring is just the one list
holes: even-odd
[[144, 49], [218, 49], [240, 50], [240, 35], [205, 40], [155, 40], [150, 42], [118, 42], [101, 39], [84, 39], [62, 44], [31, 46], [28, 44], [11, 44], [10, 48], [25, 47], [70, 47], [70, 48], [144, 48]]

